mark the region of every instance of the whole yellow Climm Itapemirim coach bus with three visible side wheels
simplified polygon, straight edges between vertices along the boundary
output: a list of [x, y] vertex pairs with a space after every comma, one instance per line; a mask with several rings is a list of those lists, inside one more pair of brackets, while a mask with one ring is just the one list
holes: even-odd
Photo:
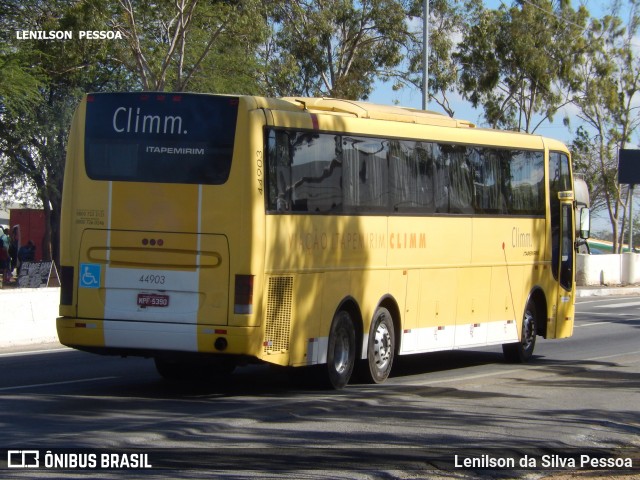
[[566, 147], [327, 98], [89, 94], [64, 177], [57, 330], [168, 379], [247, 362], [383, 382], [397, 355], [574, 321]]

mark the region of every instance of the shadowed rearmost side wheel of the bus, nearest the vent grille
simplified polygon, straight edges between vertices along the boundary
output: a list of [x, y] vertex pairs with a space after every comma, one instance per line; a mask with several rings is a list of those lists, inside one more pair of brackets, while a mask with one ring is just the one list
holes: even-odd
[[327, 349], [327, 379], [329, 386], [336, 390], [344, 388], [351, 374], [356, 358], [356, 331], [351, 315], [340, 310], [333, 317]]

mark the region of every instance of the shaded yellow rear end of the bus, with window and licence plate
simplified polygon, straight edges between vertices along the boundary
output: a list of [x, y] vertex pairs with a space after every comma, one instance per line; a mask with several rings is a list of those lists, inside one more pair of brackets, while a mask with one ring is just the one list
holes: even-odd
[[[236, 144], [241, 104], [164, 93], [82, 102], [63, 194], [63, 344], [150, 356], [251, 350], [253, 226], [230, 181], [245, 174], [233, 162], [248, 146]], [[231, 248], [247, 249], [235, 264]]]

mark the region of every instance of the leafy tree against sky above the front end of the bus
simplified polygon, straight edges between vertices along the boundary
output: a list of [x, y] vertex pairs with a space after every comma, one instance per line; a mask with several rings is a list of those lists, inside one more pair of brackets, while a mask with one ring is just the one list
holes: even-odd
[[475, 10], [455, 54], [461, 92], [493, 128], [533, 133], [568, 102], [560, 84], [587, 12], [551, 0]]

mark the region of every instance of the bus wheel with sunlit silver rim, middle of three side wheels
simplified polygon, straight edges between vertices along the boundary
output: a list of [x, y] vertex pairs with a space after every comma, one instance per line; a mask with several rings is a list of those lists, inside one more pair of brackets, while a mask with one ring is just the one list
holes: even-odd
[[382, 383], [391, 373], [396, 348], [393, 319], [386, 308], [376, 310], [367, 343], [367, 359], [361, 369], [362, 379], [367, 383]]

